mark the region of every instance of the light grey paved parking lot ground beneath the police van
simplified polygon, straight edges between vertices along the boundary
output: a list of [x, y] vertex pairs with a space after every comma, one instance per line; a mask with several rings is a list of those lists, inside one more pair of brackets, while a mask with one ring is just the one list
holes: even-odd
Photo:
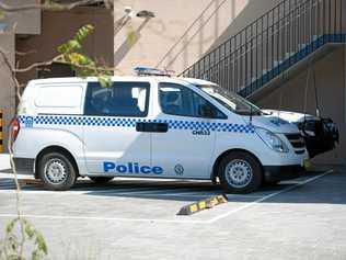
[[[27, 179], [26, 176], [20, 176]], [[346, 174], [323, 168], [191, 216], [184, 205], [222, 194], [206, 181], [80, 179], [70, 191], [22, 186], [21, 210], [50, 259], [346, 259]], [[15, 217], [15, 185], [0, 157], [0, 234]]]

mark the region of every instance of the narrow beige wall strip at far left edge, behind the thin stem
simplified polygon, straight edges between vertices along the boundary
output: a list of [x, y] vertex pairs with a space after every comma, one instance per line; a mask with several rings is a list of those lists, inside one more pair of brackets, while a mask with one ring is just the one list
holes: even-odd
[[[0, 48], [3, 50], [14, 66], [14, 35], [12, 33], [0, 33]], [[4, 137], [8, 136], [9, 123], [14, 116], [15, 90], [11, 78], [11, 72], [0, 57], [0, 110], [4, 113]], [[4, 148], [7, 148], [7, 138], [4, 138]]]

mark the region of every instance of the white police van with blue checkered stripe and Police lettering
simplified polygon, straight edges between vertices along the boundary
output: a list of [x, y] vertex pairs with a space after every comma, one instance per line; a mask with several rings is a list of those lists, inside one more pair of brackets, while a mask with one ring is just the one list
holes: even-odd
[[227, 192], [295, 178], [309, 156], [296, 125], [216, 84], [171, 77], [32, 80], [12, 121], [14, 160], [49, 190], [78, 177], [216, 180]]

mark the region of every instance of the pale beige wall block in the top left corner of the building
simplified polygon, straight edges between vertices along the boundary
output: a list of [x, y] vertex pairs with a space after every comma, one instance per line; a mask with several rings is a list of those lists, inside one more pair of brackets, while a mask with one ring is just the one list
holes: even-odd
[[[9, 5], [18, 7], [21, 4], [39, 3], [41, 0], [0, 0]], [[19, 12], [8, 12], [4, 22], [8, 30], [15, 24], [16, 34], [39, 34], [41, 33], [41, 10], [31, 9]]]

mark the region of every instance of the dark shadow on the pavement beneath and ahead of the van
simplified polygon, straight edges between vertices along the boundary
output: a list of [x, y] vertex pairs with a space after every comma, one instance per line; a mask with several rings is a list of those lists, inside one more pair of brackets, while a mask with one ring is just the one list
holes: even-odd
[[[230, 202], [249, 202], [282, 191], [280, 195], [268, 197], [263, 203], [323, 203], [346, 204], [346, 174], [330, 173], [307, 184], [297, 185], [322, 172], [305, 173], [303, 179], [281, 182], [276, 185], [263, 186], [251, 194], [227, 194]], [[284, 192], [290, 188], [287, 192]], [[11, 178], [0, 179], [0, 190], [14, 190]], [[41, 185], [24, 185], [24, 191], [44, 190]], [[210, 181], [176, 181], [176, 180], [116, 180], [107, 184], [95, 184], [88, 178], [81, 179], [71, 189], [84, 195], [131, 197], [143, 200], [198, 201], [212, 195], [222, 194], [220, 184]]]

